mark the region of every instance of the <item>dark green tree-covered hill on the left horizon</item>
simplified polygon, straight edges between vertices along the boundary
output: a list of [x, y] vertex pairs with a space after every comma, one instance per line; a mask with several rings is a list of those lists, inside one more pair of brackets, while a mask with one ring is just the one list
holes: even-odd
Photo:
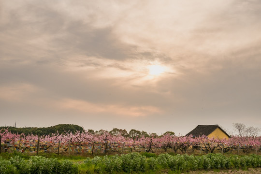
[[[70, 131], [70, 132], [76, 132], [76, 131], [83, 131], [84, 129], [78, 125], [73, 125], [73, 124], [58, 124], [56, 126], [51, 126], [47, 128], [15, 128], [15, 127], [7, 127], [7, 126], [2, 126], [0, 127], [0, 130], [2, 129], [7, 129], [8, 131], [11, 131], [12, 133], [25, 133], [27, 134], [37, 134], [37, 135], [51, 135], [52, 133], [57, 133], [59, 134], [63, 133], [64, 131]], [[3, 130], [2, 130], [3, 131]]]

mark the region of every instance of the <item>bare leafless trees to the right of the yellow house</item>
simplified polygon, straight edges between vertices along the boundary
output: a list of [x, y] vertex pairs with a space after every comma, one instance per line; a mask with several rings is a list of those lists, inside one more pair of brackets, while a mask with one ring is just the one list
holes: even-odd
[[256, 128], [253, 126], [246, 127], [246, 125], [242, 123], [233, 123], [234, 130], [238, 133], [239, 136], [250, 137], [250, 136], [258, 136], [261, 131], [260, 128]]

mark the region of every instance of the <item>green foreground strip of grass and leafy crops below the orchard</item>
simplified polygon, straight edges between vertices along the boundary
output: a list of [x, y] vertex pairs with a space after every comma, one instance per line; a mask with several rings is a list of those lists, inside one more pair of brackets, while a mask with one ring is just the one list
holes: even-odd
[[0, 154], [0, 174], [180, 174], [260, 168], [261, 155], [170, 155], [129, 153], [113, 156]]

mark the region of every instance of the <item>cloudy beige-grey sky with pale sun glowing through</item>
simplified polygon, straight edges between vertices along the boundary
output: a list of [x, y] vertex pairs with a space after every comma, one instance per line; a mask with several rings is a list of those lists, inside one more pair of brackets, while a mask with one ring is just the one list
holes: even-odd
[[0, 126], [261, 125], [260, 0], [0, 0]]

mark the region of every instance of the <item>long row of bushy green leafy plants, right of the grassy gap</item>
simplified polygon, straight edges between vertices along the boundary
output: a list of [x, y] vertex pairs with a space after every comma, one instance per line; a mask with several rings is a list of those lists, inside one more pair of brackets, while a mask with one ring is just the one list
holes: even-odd
[[196, 170], [223, 170], [223, 169], [247, 169], [261, 167], [261, 156], [237, 156], [230, 157], [221, 154], [194, 155], [169, 155], [160, 154], [158, 157], [146, 158], [139, 153], [131, 153], [112, 157], [87, 158], [85, 164], [87, 171], [98, 174], [112, 174], [116, 172], [135, 173], [145, 171], [157, 171], [168, 169], [174, 173]]

